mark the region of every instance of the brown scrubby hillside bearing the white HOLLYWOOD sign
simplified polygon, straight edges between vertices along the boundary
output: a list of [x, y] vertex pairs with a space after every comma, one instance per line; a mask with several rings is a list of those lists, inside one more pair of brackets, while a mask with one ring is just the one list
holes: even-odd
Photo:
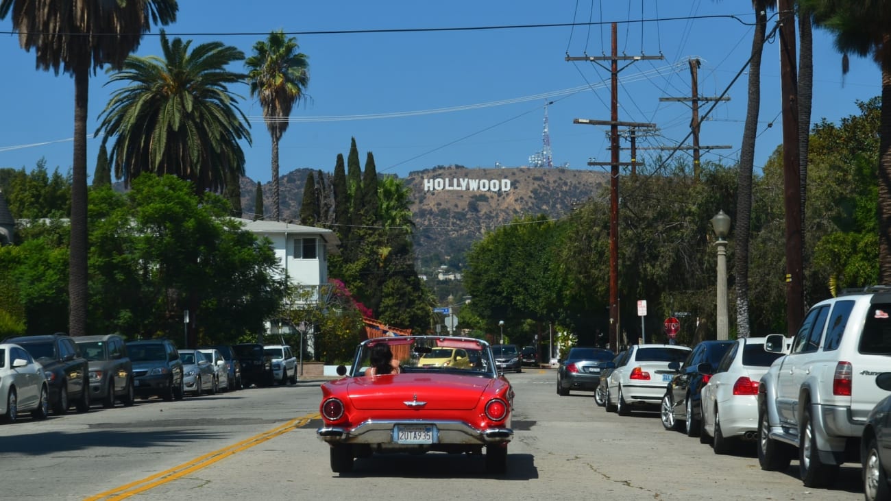
[[[281, 177], [282, 220], [298, 219], [310, 172], [314, 171], [300, 168]], [[411, 172], [404, 179], [413, 192], [417, 257], [427, 268], [445, 259], [462, 260], [472, 242], [514, 218], [537, 214], [559, 218], [574, 204], [606, 193], [609, 177], [601, 171], [568, 168], [437, 167]], [[242, 178], [246, 218], [254, 210], [256, 189], [256, 183]], [[269, 185], [263, 186], [267, 216], [271, 191]]]

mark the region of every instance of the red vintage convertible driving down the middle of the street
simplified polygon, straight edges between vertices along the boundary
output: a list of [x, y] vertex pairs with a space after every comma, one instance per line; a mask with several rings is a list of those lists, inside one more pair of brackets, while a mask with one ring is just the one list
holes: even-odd
[[[381, 346], [383, 345], [383, 346]], [[423, 365], [425, 354], [455, 349], [460, 364]], [[392, 354], [372, 370], [372, 354]], [[466, 362], [466, 363], [465, 363]], [[380, 360], [375, 360], [380, 364]], [[486, 341], [462, 337], [381, 337], [359, 344], [344, 378], [322, 385], [317, 433], [331, 446], [331, 471], [351, 472], [356, 457], [430, 451], [481, 454], [486, 472], [501, 474], [513, 437], [511, 383], [498, 374]], [[348, 373], [348, 374], [347, 374]], [[375, 374], [377, 373], [377, 374]]]

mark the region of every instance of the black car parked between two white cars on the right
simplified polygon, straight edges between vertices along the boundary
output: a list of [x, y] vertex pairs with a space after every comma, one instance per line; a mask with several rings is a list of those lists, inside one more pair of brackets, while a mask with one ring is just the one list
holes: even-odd
[[668, 368], [674, 376], [666, 386], [662, 398], [660, 417], [666, 430], [680, 430], [688, 437], [700, 437], [699, 427], [702, 424], [702, 387], [706, 385], [724, 354], [731, 348], [733, 341], [707, 340], [693, 347], [690, 355], [683, 361], [673, 361]]

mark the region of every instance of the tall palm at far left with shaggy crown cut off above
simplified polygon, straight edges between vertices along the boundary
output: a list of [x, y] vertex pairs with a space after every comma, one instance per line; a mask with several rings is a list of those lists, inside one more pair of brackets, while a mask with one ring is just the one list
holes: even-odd
[[12, 12], [19, 45], [34, 49], [37, 67], [74, 77], [74, 158], [71, 161], [69, 333], [86, 334], [86, 105], [90, 72], [119, 68], [151, 24], [176, 21], [176, 0], [0, 0]]

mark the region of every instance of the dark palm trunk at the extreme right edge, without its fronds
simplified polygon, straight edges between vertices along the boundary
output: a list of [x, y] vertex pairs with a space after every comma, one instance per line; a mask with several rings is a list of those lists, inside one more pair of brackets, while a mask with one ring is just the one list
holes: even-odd
[[891, 283], [891, 34], [882, 37], [882, 111], [879, 125], [879, 283]]

